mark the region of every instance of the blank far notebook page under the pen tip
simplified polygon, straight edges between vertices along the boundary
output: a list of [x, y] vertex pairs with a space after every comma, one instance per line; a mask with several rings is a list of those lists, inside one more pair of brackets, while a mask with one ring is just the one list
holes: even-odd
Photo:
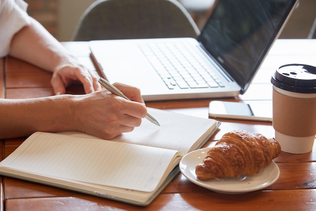
[[[135, 128], [133, 132], [124, 133], [111, 141], [174, 149], [181, 151], [182, 154], [187, 154], [198, 148], [200, 143], [203, 143], [219, 126], [219, 122], [214, 119], [200, 118], [160, 109], [148, 108], [148, 113], [161, 126], [157, 126], [147, 119], [142, 119], [141, 125]], [[87, 134], [78, 132], [67, 132], [65, 134], [89, 137]], [[92, 138], [93, 136], [90, 137]]]

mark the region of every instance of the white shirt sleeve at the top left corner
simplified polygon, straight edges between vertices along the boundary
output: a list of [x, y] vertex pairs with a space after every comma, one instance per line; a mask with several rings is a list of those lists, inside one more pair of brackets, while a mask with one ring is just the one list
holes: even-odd
[[30, 24], [27, 6], [22, 0], [0, 0], [0, 57], [8, 55], [13, 35]]

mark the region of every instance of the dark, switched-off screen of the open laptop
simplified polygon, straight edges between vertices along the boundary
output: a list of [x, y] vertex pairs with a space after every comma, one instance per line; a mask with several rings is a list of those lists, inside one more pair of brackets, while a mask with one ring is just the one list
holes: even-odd
[[247, 89], [296, 0], [219, 0], [198, 41]]

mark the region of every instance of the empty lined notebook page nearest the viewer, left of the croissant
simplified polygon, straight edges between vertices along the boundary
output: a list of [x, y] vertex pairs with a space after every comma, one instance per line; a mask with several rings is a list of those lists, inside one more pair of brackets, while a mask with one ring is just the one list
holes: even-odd
[[174, 150], [37, 132], [1, 164], [47, 177], [153, 191], [176, 153]]

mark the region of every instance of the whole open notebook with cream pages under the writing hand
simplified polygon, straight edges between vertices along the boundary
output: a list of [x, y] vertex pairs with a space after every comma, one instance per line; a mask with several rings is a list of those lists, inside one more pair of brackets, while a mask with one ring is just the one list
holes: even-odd
[[79, 132], [36, 132], [0, 162], [0, 174], [137, 205], [149, 204], [220, 122], [150, 109], [161, 126], [141, 126], [111, 141]]

